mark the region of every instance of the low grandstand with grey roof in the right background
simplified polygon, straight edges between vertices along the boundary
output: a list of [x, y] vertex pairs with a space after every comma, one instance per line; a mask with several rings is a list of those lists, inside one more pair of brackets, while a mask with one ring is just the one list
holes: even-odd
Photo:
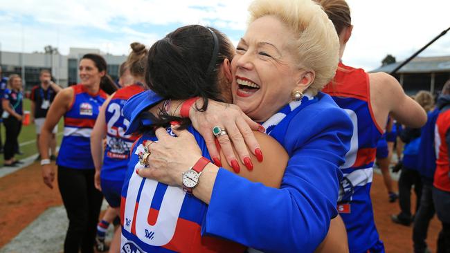
[[[373, 72], [390, 73], [402, 62], [381, 66]], [[408, 95], [425, 90], [435, 94], [442, 90], [444, 83], [450, 79], [450, 56], [416, 57], [393, 75]]]

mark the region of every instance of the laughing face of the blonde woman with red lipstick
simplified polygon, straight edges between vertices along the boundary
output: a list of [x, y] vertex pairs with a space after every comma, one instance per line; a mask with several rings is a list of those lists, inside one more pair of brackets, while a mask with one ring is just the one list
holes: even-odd
[[277, 17], [264, 16], [249, 25], [237, 45], [231, 63], [233, 102], [257, 122], [288, 104], [303, 79], [294, 40], [293, 32]]

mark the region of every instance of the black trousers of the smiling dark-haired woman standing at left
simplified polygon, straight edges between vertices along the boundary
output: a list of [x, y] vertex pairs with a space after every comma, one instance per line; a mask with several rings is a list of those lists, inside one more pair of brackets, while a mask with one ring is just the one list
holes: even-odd
[[93, 252], [102, 193], [93, 185], [94, 169], [58, 167], [58, 185], [69, 218], [64, 252]]

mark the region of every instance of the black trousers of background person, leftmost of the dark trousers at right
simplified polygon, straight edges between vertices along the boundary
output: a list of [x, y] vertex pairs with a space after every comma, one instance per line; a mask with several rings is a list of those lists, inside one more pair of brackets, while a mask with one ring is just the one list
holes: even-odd
[[401, 220], [411, 221], [411, 188], [413, 185], [415, 196], [417, 197], [415, 205], [415, 211], [417, 212], [420, 206], [420, 196], [422, 195], [420, 174], [416, 170], [403, 167], [399, 178], [399, 205], [401, 212], [398, 218]]

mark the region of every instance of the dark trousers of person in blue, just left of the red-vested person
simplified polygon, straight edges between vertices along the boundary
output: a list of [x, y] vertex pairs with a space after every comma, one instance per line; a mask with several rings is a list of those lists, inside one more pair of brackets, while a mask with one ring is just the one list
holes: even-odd
[[415, 213], [413, 227], [415, 253], [422, 253], [426, 250], [426, 234], [434, 214], [433, 182], [422, 180], [422, 198], [420, 198], [419, 210]]

